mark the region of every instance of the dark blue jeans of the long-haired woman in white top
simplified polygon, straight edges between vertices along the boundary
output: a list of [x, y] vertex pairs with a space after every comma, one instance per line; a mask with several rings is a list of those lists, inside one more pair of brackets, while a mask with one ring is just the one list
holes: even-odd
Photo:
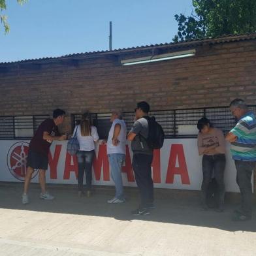
[[86, 171], [86, 189], [91, 189], [92, 165], [95, 151], [78, 151], [76, 153], [78, 161], [78, 190], [83, 191], [84, 171]]

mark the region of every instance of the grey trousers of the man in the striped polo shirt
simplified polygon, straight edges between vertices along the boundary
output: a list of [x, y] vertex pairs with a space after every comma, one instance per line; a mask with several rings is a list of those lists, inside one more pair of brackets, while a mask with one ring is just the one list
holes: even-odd
[[241, 212], [251, 217], [253, 194], [251, 191], [251, 175], [255, 162], [234, 160], [236, 165], [236, 183], [240, 188], [242, 197]]

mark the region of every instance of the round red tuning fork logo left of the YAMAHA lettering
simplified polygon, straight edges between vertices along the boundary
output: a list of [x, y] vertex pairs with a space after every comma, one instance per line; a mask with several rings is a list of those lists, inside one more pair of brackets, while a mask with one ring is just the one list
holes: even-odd
[[[27, 170], [27, 153], [29, 152], [29, 144], [21, 141], [14, 143], [7, 153], [7, 166], [12, 174], [18, 180], [24, 180]], [[37, 175], [33, 172], [32, 178]]]

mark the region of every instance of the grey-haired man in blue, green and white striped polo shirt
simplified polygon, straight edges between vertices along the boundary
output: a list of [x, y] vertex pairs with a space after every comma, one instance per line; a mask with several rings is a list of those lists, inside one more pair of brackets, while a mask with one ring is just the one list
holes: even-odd
[[227, 134], [231, 142], [231, 153], [236, 165], [236, 183], [242, 196], [241, 208], [235, 210], [234, 221], [251, 219], [252, 191], [251, 176], [256, 162], [256, 120], [242, 99], [234, 99], [229, 105], [232, 115], [238, 120]]

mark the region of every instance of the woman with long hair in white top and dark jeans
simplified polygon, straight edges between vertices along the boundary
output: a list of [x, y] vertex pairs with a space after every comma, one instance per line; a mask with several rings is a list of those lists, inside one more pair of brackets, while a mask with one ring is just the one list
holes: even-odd
[[74, 128], [73, 136], [79, 142], [78, 159], [78, 195], [84, 194], [83, 181], [86, 171], [86, 194], [91, 195], [92, 164], [95, 156], [95, 142], [99, 140], [97, 128], [91, 124], [91, 116], [88, 113], [82, 115], [80, 125]]

